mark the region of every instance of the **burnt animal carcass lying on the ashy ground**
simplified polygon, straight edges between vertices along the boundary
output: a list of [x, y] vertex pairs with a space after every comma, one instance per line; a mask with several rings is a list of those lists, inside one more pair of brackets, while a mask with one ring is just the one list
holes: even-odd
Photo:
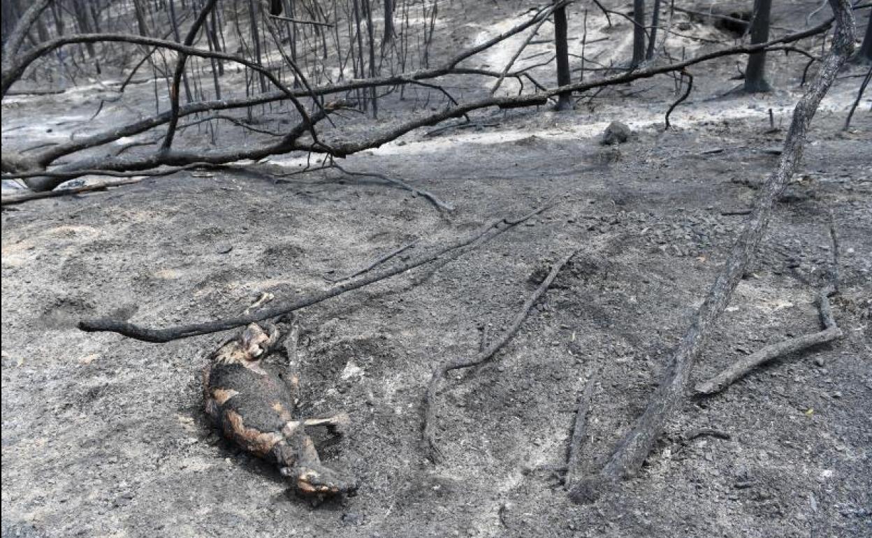
[[[223, 435], [249, 453], [279, 466], [301, 494], [329, 496], [353, 491], [355, 480], [322, 465], [307, 426], [327, 426], [342, 434], [348, 415], [294, 419], [299, 378], [292, 368], [267, 362], [285, 342], [296, 349], [296, 330], [283, 338], [275, 325], [250, 324], [221, 345], [204, 371], [206, 412]], [[290, 334], [293, 333], [293, 334]], [[288, 357], [289, 364], [294, 357]]]

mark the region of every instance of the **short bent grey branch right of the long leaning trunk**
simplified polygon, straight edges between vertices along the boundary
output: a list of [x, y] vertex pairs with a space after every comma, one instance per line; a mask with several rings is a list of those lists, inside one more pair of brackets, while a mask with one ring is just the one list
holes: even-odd
[[833, 293], [835, 293], [835, 289], [832, 286], [828, 286], [821, 290], [817, 301], [815, 301], [818, 304], [818, 309], [821, 311], [821, 321], [824, 327], [826, 327], [824, 330], [789, 338], [778, 344], [767, 345], [760, 350], [754, 351], [751, 355], [739, 358], [739, 360], [727, 366], [724, 371], [721, 371], [715, 377], [696, 385], [694, 387], [696, 395], [709, 396], [716, 394], [739, 379], [744, 378], [750, 371], [762, 364], [784, 357], [790, 353], [803, 351], [815, 345], [825, 344], [832, 342], [836, 338], [841, 338], [841, 329], [836, 326], [833, 314], [830, 311], [828, 296]]

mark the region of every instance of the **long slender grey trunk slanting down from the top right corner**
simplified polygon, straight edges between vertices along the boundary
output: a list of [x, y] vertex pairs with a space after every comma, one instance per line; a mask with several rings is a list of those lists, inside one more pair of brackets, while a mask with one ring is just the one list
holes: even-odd
[[814, 118], [829, 86], [833, 84], [841, 65], [854, 49], [854, 17], [847, 0], [831, 0], [835, 15], [835, 35], [826, 58], [805, 94], [794, 109], [784, 151], [778, 167], [761, 189], [749, 221], [739, 235], [732, 253], [720, 270], [704, 303], [699, 307], [690, 328], [681, 338], [678, 349], [664, 378], [652, 394], [635, 426], [617, 444], [615, 451], [596, 474], [581, 480], [570, 496], [576, 502], [593, 502], [617, 480], [635, 475], [651, 453], [655, 441], [664, 431], [666, 420], [684, 400], [694, 361], [702, 353], [712, 326], [729, 303], [732, 291], [745, 274], [754, 251], [766, 230], [773, 205], [791, 179], [802, 157], [808, 126]]

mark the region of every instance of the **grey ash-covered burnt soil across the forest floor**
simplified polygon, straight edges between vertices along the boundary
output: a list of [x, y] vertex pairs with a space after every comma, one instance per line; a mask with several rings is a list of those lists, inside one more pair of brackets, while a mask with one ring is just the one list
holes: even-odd
[[[733, 84], [732, 60], [698, 68], [699, 88], [667, 132], [671, 79], [571, 112], [486, 114], [500, 125], [412, 133], [343, 163], [426, 188], [454, 205], [449, 214], [374, 179], [276, 183], [220, 170], [4, 209], [3, 536], [872, 535], [868, 99], [841, 131], [860, 67], [815, 118], [800, 172], [693, 378], [818, 330], [829, 210], [845, 337], [687, 399], [642, 472], [593, 505], [572, 504], [550, 470], [565, 463], [595, 372], [586, 469], [644, 409], [746, 218], [723, 214], [747, 208], [777, 162], [765, 150], [785, 131], [770, 130], [766, 111], [787, 125], [804, 63], [778, 65], [773, 94], [716, 101], [705, 99]], [[621, 91], [637, 87], [647, 86]], [[4, 103], [4, 131], [49, 121], [58, 105], [69, 113], [63, 99]], [[77, 106], [89, 115], [95, 103]], [[705, 106], [714, 112], [698, 112]], [[656, 119], [631, 123], [630, 141], [599, 145], [610, 120], [645, 114]], [[4, 144], [38, 142], [14, 136], [4, 132]], [[145, 344], [75, 327], [85, 317], [168, 326], [237, 315], [262, 292], [325, 289], [325, 276], [406, 242], [421, 238], [401, 256], [415, 255], [554, 196], [555, 208], [451, 262], [303, 310], [301, 412], [351, 414], [351, 431], [322, 458], [361, 483], [318, 507], [209, 426], [200, 372], [227, 334]], [[433, 366], [474, 354], [576, 248], [508, 346], [453, 372], [439, 394], [445, 460], [426, 460], [421, 401]], [[703, 427], [730, 439], [682, 441]]]

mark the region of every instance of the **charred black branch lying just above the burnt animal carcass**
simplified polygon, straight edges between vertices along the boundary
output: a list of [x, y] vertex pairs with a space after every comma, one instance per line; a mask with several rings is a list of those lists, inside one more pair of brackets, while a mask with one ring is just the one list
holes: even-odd
[[307, 306], [311, 306], [312, 304], [321, 303], [332, 297], [340, 296], [348, 291], [351, 291], [352, 289], [363, 288], [364, 286], [368, 286], [371, 283], [377, 283], [380, 280], [385, 280], [386, 278], [405, 273], [405, 271], [408, 271], [409, 269], [414, 269], [416, 267], [419, 267], [420, 265], [424, 265], [425, 263], [433, 262], [434, 260], [439, 259], [441, 255], [444, 255], [450, 251], [466, 247], [467, 245], [478, 241], [484, 235], [487, 235], [488, 232], [494, 232], [488, 237], [488, 239], [492, 239], [494, 236], [505, 232], [509, 228], [513, 228], [517, 224], [520, 224], [522, 221], [526, 221], [535, 215], [539, 215], [540, 213], [551, 207], [551, 204], [544, 205], [542, 206], [542, 208], [537, 208], [531, 213], [528, 213], [528, 215], [524, 215], [523, 217], [521, 217], [521, 219], [515, 221], [507, 218], [490, 221], [484, 227], [480, 228], [477, 232], [473, 233], [473, 235], [468, 235], [467, 237], [463, 237], [455, 242], [449, 243], [448, 245], [437, 249], [433, 253], [419, 255], [417, 258], [414, 258], [404, 263], [400, 263], [396, 267], [384, 269], [378, 271], [377, 273], [373, 273], [370, 276], [366, 276], [364, 278], [354, 280], [349, 283], [344, 283], [330, 289], [316, 291], [309, 296], [303, 296], [296, 301], [280, 303], [272, 308], [261, 310], [256, 314], [248, 314], [240, 317], [230, 317], [227, 319], [221, 319], [218, 321], [206, 323], [191, 323], [188, 325], [167, 327], [166, 329], [150, 329], [148, 327], [137, 325], [136, 323], [122, 322], [107, 318], [91, 319], [80, 321], [78, 323], [78, 329], [84, 330], [85, 332], [117, 332], [125, 337], [135, 338], [143, 342], [154, 343], [171, 342], [173, 340], [179, 340], [181, 338], [196, 337], [204, 334], [219, 332], [221, 330], [235, 329], [237, 327], [242, 327], [243, 325], [248, 325], [249, 323], [259, 322], [272, 317], [279, 317], [283, 314], [288, 314], [290, 312], [300, 310]]

